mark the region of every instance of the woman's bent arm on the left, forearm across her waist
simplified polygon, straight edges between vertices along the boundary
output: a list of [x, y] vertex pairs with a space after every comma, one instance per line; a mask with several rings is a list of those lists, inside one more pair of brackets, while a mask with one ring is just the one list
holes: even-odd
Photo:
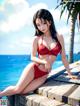
[[45, 60], [36, 57], [37, 47], [38, 47], [38, 37], [35, 37], [34, 40], [33, 40], [33, 43], [32, 43], [31, 60], [36, 62], [36, 63], [45, 65], [46, 64]]

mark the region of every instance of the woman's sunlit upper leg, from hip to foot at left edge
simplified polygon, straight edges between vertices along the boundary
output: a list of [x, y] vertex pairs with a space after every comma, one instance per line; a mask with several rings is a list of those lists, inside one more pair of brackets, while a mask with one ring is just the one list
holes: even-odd
[[19, 94], [34, 78], [34, 63], [30, 63], [23, 71], [16, 86], [9, 86], [5, 90], [0, 91], [1, 96], [9, 96]]

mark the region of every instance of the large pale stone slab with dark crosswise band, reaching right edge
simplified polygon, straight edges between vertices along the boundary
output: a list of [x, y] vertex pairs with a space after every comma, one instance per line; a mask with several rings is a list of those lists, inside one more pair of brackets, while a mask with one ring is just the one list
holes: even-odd
[[67, 104], [77, 104], [72, 106], [80, 106], [80, 86], [76, 84], [51, 80], [39, 87], [36, 93]]

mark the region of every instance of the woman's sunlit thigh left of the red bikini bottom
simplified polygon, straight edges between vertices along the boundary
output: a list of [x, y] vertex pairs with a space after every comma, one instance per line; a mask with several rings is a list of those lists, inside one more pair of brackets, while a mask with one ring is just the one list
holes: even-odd
[[34, 78], [34, 64], [30, 63], [23, 70], [21, 77], [16, 86], [23, 90], [33, 80], [33, 78]]

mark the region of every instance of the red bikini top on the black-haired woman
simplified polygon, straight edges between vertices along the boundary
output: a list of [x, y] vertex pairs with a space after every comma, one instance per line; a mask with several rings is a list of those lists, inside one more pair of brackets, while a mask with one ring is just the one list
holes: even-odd
[[60, 53], [61, 51], [61, 45], [60, 43], [58, 42], [56, 44], [56, 46], [54, 48], [52, 48], [51, 50], [49, 50], [45, 45], [43, 45], [43, 43], [41, 43], [39, 46], [38, 46], [38, 55], [54, 55], [54, 56], [57, 56], [58, 53]]

